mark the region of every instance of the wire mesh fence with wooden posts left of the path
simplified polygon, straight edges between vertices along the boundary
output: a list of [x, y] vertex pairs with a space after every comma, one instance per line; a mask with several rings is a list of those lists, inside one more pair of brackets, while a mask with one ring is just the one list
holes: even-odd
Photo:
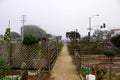
[[0, 57], [14, 69], [21, 69], [22, 63], [26, 63], [30, 75], [37, 75], [36, 80], [42, 76], [42, 72], [50, 72], [58, 55], [59, 43], [47, 41], [35, 45], [22, 45], [20, 42], [0, 43]]

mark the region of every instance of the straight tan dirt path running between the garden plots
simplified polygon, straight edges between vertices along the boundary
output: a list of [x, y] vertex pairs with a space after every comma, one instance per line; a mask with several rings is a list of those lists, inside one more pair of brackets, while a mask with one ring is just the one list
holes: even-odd
[[66, 44], [63, 46], [53, 67], [52, 78], [54, 78], [53, 80], [80, 80]]

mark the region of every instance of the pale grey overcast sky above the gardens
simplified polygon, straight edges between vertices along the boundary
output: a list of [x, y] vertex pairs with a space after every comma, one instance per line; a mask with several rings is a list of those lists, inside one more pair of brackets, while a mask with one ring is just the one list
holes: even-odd
[[92, 17], [92, 26], [106, 23], [107, 29], [120, 28], [119, 0], [0, 0], [0, 34], [9, 20], [12, 31], [20, 33], [21, 15], [26, 15], [26, 25], [40, 26], [48, 33], [65, 36], [78, 29], [84, 36], [89, 17], [96, 14], [100, 16]]

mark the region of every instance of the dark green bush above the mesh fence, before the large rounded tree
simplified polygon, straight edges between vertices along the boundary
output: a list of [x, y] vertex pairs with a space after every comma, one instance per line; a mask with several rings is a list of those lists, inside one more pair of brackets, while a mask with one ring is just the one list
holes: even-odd
[[23, 39], [24, 45], [32, 45], [32, 44], [37, 44], [37, 43], [39, 43], [39, 40], [32, 35], [26, 35]]

